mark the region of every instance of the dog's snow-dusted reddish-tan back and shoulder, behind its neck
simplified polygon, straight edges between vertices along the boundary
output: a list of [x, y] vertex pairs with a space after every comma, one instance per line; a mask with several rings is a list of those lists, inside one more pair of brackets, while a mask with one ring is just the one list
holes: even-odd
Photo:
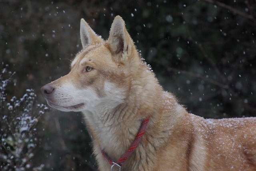
[[186, 113], [177, 121], [158, 156], [159, 170], [256, 169], [256, 117], [203, 119]]

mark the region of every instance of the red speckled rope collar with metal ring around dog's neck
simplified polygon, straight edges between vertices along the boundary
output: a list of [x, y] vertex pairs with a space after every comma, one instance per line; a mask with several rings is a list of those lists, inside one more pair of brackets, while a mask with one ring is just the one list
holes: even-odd
[[108, 157], [108, 155], [106, 155], [106, 153], [104, 153], [104, 151], [102, 150], [101, 153], [103, 155], [103, 157], [108, 161], [108, 163], [111, 166], [111, 170], [114, 166], [118, 167], [119, 170], [121, 170], [121, 167], [122, 165], [124, 164], [124, 162], [128, 159], [128, 157], [130, 157], [130, 155], [132, 154], [132, 152], [136, 149], [136, 147], [139, 145], [140, 143], [140, 139], [142, 138], [145, 130], [146, 130], [146, 127], [148, 125], [148, 120], [149, 120], [149, 117], [147, 117], [146, 119], [143, 120], [143, 122], [141, 123], [141, 126], [140, 126], [140, 129], [139, 129], [139, 132], [136, 136], [136, 138], [134, 139], [132, 145], [130, 146], [130, 148], [126, 151], [126, 153], [124, 153], [122, 155], [122, 157], [120, 157], [120, 159], [117, 161], [117, 162], [114, 162], [112, 159], [110, 159], [110, 157]]

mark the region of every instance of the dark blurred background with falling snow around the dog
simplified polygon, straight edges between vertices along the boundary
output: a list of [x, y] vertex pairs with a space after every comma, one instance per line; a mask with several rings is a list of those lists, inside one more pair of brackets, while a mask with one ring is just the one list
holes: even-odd
[[[82, 48], [80, 19], [105, 40], [122, 16], [160, 84], [205, 118], [256, 116], [255, 0], [0, 0], [0, 62], [15, 71], [7, 98], [68, 74]], [[2, 65], [0, 65], [2, 67]], [[95, 170], [80, 113], [55, 109], [36, 125], [32, 165]]]

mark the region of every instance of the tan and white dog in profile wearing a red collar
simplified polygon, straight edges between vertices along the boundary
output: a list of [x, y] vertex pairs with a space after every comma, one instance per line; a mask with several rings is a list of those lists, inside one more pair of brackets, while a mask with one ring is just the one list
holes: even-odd
[[81, 111], [100, 171], [256, 170], [256, 117], [204, 119], [163, 90], [124, 20], [108, 40], [81, 19], [82, 50], [41, 91], [53, 108]]

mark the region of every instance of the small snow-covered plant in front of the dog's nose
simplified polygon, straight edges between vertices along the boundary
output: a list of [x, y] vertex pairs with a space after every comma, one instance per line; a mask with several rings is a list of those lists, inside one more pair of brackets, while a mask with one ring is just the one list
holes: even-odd
[[0, 74], [0, 169], [42, 170], [44, 165], [33, 167], [31, 159], [38, 141], [35, 125], [48, 107], [34, 105], [36, 94], [33, 89], [26, 89], [20, 99], [14, 96], [8, 101], [6, 88], [15, 72], [8, 72], [7, 67], [5, 65]]

